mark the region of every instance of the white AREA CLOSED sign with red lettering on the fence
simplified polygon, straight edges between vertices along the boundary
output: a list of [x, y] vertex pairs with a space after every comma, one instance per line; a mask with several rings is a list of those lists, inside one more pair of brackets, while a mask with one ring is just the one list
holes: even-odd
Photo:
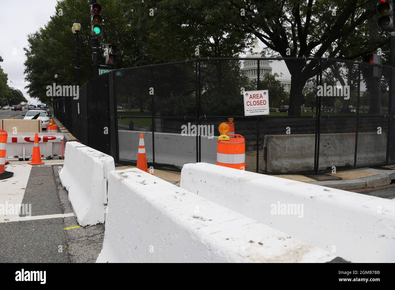
[[244, 92], [244, 116], [269, 115], [269, 91]]

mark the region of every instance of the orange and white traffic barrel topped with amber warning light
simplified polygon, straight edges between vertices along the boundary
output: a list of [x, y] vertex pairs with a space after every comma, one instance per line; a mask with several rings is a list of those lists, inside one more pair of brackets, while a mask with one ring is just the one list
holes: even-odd
[[221, 136], [218, 137], [216, 164], [245, 170], [245, 139], [239, 134], [226, 134], [229, 129], [227, 123], [221, 123], [218, 127]]

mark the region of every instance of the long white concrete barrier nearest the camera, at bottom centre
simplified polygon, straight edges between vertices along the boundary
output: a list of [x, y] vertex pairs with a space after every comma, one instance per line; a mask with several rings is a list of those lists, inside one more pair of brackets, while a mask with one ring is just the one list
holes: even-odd
[[137, 168], [109, 173], [97, 262], [329, 262], [335, 257]]

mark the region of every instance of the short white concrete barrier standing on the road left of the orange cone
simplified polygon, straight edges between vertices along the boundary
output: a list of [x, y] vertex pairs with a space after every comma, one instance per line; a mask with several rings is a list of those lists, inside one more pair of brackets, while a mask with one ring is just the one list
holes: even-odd
[[104, 223], [110, 170], [115, 170], [113, 157], [75, 141], [66, 143], [59, 177], [81, 226]]

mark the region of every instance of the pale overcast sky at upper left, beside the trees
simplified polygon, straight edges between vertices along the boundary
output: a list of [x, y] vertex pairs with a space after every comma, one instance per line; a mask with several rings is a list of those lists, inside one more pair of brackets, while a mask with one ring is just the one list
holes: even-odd
[[[56, 0], [0, 0], [0, 62], [8, 74], [8, 85], [23, 92], [30, 102], [37, 104], [26, 93], [24, 65], [26, 60], [23, 48], [28, 45], [27, 34], [44, 26], [49, 17], [55, 14]], [[11, 83], [12, 81], [12, 83]], [[10, 104], [14, 105], [14, 104]]]

